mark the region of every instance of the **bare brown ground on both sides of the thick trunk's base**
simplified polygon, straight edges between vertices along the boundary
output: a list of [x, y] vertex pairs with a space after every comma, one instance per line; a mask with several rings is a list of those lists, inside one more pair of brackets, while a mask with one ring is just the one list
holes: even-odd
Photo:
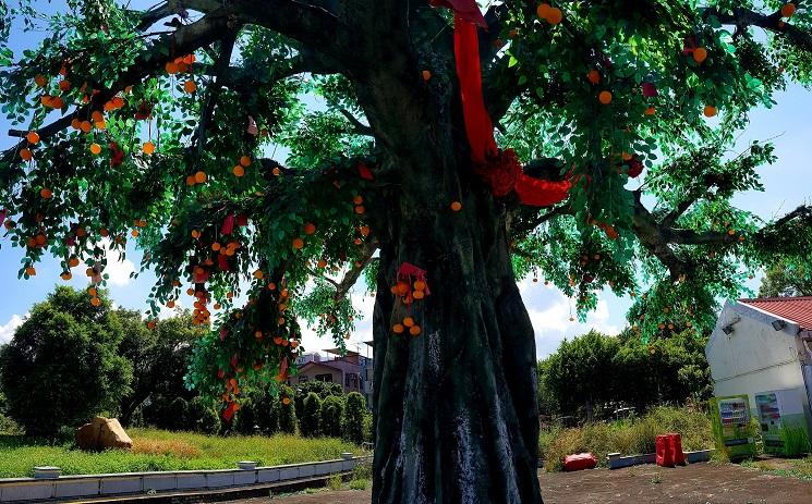
[[[812, 481], [773, 476], [737, 465], [693, 464], [674, 469], [637, 466], [580, 472], [540, 472], [545, 504], [810, 504]], [[240, 504], [366, 504], [369, 491], [318, 492]]]

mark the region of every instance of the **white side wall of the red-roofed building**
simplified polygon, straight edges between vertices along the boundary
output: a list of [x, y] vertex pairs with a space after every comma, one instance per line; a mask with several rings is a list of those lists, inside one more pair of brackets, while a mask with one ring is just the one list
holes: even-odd
[[[725, 334], [722, 328], [737, 318], [734, 332]], [[798, 325], [787, 323], [776, 331], [772, 325], [776, 319], [747, 305], [728, 302], [705, 347], [714, 395], [748, 394], [751, 414], [755, 415], [755, 394], [790, 389], [801, 398], [808, 422], [812, 425]]]

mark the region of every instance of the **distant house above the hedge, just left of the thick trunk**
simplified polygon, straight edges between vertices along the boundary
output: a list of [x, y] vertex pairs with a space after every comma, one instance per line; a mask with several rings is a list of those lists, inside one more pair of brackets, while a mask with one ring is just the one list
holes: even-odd
[[367, 407], [372, 407], [372, 372], [368, 370], [373, 367], [373, 359], [349, 349], [343, 355], [340, 348], [324, 352], [328, 355], [314, 353], [300, 356], [296, 359], [298, 372], [288, 378], [288, 384], [295, 388], [313, 380], [339, 383], [344, 393], [359, 392], [364, 395]]

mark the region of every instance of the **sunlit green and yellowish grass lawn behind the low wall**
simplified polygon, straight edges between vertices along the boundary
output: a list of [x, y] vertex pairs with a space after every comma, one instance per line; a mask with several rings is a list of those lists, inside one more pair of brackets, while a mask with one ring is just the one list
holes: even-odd
[[19, 435], [0, 435], [0, 478], [33, 476], [35, 466], [57, 466], [63, 475], [153, 470], [231, 469], [239, 460], [276, 466], [340, 458], [361, 448], [338, 439], [295, 435], [213, 437], [155, 429], [130, 429], [132, 452], [87, 453], [70, 444], [48, 445]]

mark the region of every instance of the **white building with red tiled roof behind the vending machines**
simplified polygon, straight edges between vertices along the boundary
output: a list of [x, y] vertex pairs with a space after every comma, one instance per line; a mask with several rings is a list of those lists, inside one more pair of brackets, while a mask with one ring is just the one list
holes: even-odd
[[812, 297], [728, 302], [705, 346], [714, 395], [789, 391], [812, 426]]

